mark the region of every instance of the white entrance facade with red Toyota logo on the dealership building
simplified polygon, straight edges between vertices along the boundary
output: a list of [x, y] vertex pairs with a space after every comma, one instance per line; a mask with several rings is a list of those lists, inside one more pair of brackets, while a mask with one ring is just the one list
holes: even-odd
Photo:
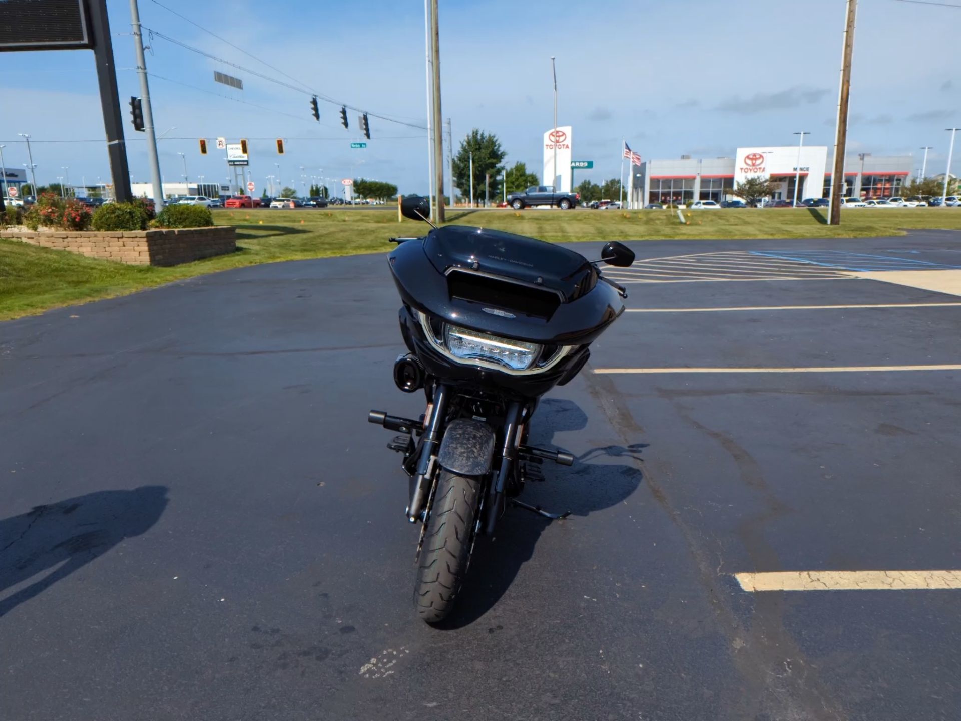
[[[827, 147], [811, 145], [800, 149], [797, 145], [780, 147], [738, 148], [734, 161], [734, 183], [744, 183], [748, 178], [761, 176], [784, 184], [801, 175], [802, 184], [798, 197], [820, 198], [825, 192], [825, 168]], [[782, 197], [787, 197], [783, 195]]]

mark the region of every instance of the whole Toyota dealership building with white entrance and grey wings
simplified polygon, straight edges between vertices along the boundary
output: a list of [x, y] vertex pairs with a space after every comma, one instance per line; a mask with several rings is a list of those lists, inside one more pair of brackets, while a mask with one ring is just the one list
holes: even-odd
[[[733, 158], [691, 158], [647, 161], [634, 165], [632, 205], [648, 203], [681, 205], [694, 200], [721, 202], [733, 197], [737, 183], [752, 176], [770, 178], [776, 184], [775, 200], [794, 198], [795, 179], [800, 175], [798, 200], [826, 198], [831, 191], [830, 159], [825, 146], [738, 148]], [[852, 155], [845, 159], [845, 195], [883, 198], [899, 195], [911, 175], [914, 158], [904, 156]], [[800, 168], [800, 172], [799, 172]]]

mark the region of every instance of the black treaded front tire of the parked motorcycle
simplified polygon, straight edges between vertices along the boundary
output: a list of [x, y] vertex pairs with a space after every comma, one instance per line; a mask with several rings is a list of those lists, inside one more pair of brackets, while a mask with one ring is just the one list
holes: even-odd
[[481, 487], [478, 478], [440, 471], [414, 584], [414, 608], [427, 623], [454, 609], [471, 559]]

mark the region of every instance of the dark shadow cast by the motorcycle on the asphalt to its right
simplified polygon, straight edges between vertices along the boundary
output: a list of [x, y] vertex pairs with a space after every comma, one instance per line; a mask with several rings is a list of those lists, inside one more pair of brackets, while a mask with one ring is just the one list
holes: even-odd
[[[534, 419], [530, 434], [533, 445], [551, 445], [555, 433], [580, 431], [587, 425], [583, 410], [566, 399], [544, 399]], [[494, 536], [478, 538], [456, 608], [434, 628], [455, 631], [470, 626], [493, 609], [514, 582], [521, 566], [532, 558], [534, 546], [549, 525], [577, 523], [578, 517], [627, 499], [643, 481], [636, 461], [642, 460], [640, 454], [647, 445], [598, 446], [581, 453], [571, 467], [542, 466], [546, 482], [529, 483], [521, 499], [547, 510], [570, 510], [570, 519], [550, 521], [528, 510], [508, 506]], [[627, 462], [620, 464], [609, 459]]]

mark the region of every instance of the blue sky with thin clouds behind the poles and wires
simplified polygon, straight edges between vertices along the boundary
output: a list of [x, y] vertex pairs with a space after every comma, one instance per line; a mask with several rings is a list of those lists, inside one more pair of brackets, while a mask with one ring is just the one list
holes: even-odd
[[[425, 123], [422, 0], [161, 2], [299, 82], [153, 0], [139, 2], [145, 27], [358, 108]], [[139, 95], [129, 3], [108, 5], [120, 95]], [[920, 146], [932, 145], [928, 173], [944, 172], [944, 129], [961, 125], [961, 78], [949, 69], [961, 9], [897, 0], [859, 5], [849, 151], [914, 153], [920, 166]], [[575, 158], [595, 162], [593, 171], [579, 171], [578, 181], [618, 174], [621, 137], [644, 158], [729, 156], [738, 146], [793, 144], [799, 130], [812, 132], [805, 144], [833, 143], [844, 0], [440, 0], [440, 8], [443, 114], [452, 119], [455, 146], [478, 127], [501, 139], [507, 162], [527, 162], [536, 172], [541, 135], [553, 119], [552, 55], [558, 124], [574, 126]], [[367, 149], [351, 150], [355, 112], [348, 132], [339, 108], [321, 102], [317, 123], [306, 90], [280, 87], [160, 37], [150, 44], [148, 69], [168, 79], [150, 81], [158, 134], [176, 128], [160, 140], [167, 181], [183, 174], [178, 152], [186, 155], [191, 181], [200, 174], [207, 182], [224, 180], [222, 157], [212, 148], [201, 156], [196, 140], [224, 136], [267, 138], [251, 140], [258, 193], [266, 176], [277, 174], [277, 162], [284, 185], [299, 182], [303, 165], [308, 178], [362, 175], [404, 193], [427, 190], [424, 131], [371, 118]], [[6, 163], [27, 162], [17, 133], [30, 133], [39, 183], [56, 181], [64, 165], [72, 182], [106, 180], [93, 54], [5, 53], [0, 60]], [[215, 69], [242, 78], [244, 90], [214, 83]], [[124, 130], [132, 174], [146, 181], [142, 134], [129, 122]], [[283, 157], [274, 137], [288, 138]], [[41, 142], [49, 140], [95, 141]], [[961, 155], [961, 144], [956, 150]]]

